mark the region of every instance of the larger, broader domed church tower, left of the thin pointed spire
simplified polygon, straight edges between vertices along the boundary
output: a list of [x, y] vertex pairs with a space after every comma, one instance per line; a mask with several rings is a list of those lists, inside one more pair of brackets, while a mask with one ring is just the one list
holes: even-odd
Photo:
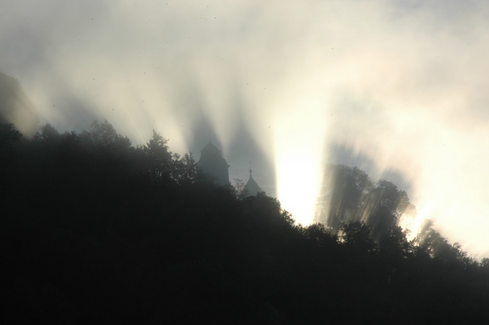
[[211, 142], [200, 151], [200, 159], [197, 166], [204, 173], [210, 174], [216, 184], [228, 185], [229, 184], [229, 165], [226, 159], [221, 155], [221, 151]]

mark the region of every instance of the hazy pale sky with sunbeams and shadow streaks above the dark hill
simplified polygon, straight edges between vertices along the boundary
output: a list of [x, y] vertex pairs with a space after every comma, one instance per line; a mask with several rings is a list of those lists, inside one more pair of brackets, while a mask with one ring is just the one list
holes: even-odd
[[298, 222], [328, 162], [406, 190], [489, 257], [489, 3], [3, 0], [0, 71], [41, 123], [107, 119], [133, 144], [213, 141]]

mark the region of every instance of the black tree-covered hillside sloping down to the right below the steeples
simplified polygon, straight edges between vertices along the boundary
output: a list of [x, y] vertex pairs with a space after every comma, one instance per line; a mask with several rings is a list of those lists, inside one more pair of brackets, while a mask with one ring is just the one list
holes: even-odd
[[[405, 192], [347, 166], [309, 226], [240, 195], [153, 131], [104, 121], [0, 127], [3, 324], [486, 324], [489, 259], [430, 221], [412, 241]], [[414, 211], [414, 210], [413, 210]]]

